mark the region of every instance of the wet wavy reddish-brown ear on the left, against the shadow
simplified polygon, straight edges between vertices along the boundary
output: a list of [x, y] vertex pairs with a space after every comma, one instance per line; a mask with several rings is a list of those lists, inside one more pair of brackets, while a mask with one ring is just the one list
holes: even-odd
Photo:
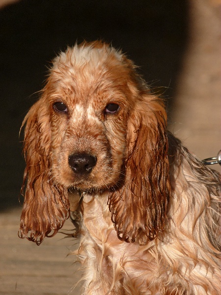
[[26, 169], [22, 191], [26, 190], [19, 236], [38, 245], [63, 226], [69, 207], [67, 192], [53, 183], [51, 175], [51, 126], [46, 106], [41, 98], [23, 121]]

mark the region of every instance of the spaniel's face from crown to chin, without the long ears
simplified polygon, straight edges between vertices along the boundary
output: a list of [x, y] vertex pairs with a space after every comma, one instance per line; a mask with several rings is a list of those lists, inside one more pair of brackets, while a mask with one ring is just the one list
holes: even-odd
[[123, 177], [127, 121], [135, 103], [129, 72], [122, 56], [104, 48], [72, 48], [55, 59], [44, 94], [55, 183], [105, 189]]

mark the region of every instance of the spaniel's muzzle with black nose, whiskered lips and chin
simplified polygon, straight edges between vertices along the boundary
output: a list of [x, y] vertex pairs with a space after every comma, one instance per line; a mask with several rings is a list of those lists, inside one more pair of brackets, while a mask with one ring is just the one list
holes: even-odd
[[57, 181], [69, 190], [69, 194], [103, 193], [118, 187], [124, 177], [119, 159], [113, 163], [111, 155], [101, 157], [100, 154], [80, 152], [70, 154], [68, 161], [66, 158], [63, 160], [66, 165], [59, 164]]

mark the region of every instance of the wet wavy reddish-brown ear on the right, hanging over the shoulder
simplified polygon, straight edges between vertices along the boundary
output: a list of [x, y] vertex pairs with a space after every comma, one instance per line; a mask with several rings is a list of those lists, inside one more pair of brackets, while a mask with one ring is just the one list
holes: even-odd
[[143, 95], [128, 126], [125, 182], [110, 193], [109, 208], [119, 239], [145, 243], [162, 235], [170, 193], [163, 102]]

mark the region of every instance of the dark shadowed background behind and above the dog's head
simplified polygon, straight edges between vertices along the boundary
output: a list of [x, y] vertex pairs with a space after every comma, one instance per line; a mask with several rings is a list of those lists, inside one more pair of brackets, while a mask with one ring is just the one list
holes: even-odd
[[83, 40], [111, 42], [166, 97], [170, 117], [188, 17], [186, 0], [22, 0], [0, 10], [0, 210], [20, 206], [19, 130], [55, 55]]

